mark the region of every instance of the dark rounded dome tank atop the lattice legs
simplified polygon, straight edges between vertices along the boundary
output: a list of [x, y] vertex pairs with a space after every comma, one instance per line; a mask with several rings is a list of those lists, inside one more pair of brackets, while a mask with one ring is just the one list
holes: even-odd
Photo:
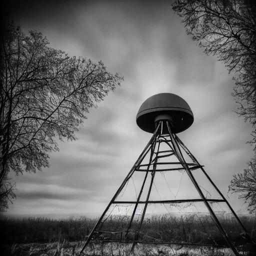
[[[170, 120], [171, 132], [178, 133], [191, 126], [194, 117], [183, 98], [173, 93], [158, 93], [142, 103], [136, 123], [142, 130], [153, 133], [157, 120]], [[166, 132], [165, 128], [164, 133]]]

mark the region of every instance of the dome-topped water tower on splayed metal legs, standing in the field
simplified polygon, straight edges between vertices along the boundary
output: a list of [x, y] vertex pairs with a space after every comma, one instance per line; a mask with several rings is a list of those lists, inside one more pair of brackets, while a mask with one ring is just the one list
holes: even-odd
[[[188, 103], [178, 95], [172, 93], [159, 93], [147, 98], [142, 103], [136, 115], [136, 123], [142, 130], [153, 133], [153, 135], [128, 175], [117, 189], [101, 217], [90, 231], [80, 252], [82, 252], [90, 242], [115, 242], [130, 244], [130, 253], [134, 252], [134, 246], [136, 244], [148, 243], [155, 245], [168, 244], [169, 246], [174, 244], [181, 246], [223, 246], [229, 247], [235, 255], [239, 255], [236, 244], [233, 242], [233, 235], [235, 233], [238, 233], [239, 235], [243, 233], [245, 237], [250, 240], [245, 227], [223, 194], [205, 172], [203, 165], [199, 164], [176, 135], [189, 128], [193, 123], [193, 120], [193, 113]], [[161, 148], [163, 145], [165, 146], [163, 148], [164, 150]], [[191, 188], [188, 188], [188, 183], [185, 183], [185, 190], [188, 198], [184, 198], [183, 196], [183, 198], [177, 199], [176, 195], [178, 192], [175, 195], [171, 192], [171, 188], [168, 185], [168, 182], [171, 182], [174, 179], [168, 179], [164, 176], [164, 173], [174, 173], [173, 177], [176, 177], [177, 174], [175, 173], [177, 172], [181, 174], [181, 179], [182, 177], [184, 179], [184, 175], [186, 175], [187, 182], [189, 181], [192, 186]], [[206, 178], [208, 185], [205, 181], [203, 184], [198, 183], [198, 180], [195, 178], [195, 176], [198, 175], [198, 172]], [[136, 190], [135, 199], [129, 198], [129, 196], [131, 197], [131, 190], [128, 190], [126, 199], [121, 199], [128, 182], [136, 173], [139, 173], [140, 176], [137, 176], [137, 178], [134, 179], [138, 182], [138, 177], [140, 177], [140, 185], [137, 186], [139, 189]], [[155, 183], [158, 180], [157, 176], [158, 179], [164, 177], [164, 180], [168, 185], [168, 189], [171, 193], [167, 199], [161, 198], [160, 193], [158, 192], [158, 190], [161, 190], [163, 187], [163, 183], [160, 183], [161, 185], [158, 186], [158, 190], [156, 188]], [[135, 188], [134, 179], [132, 179], [130, 183], [132, 184], [133, 182]], [[181, 179], [180, 182], [174, 182], [173, 184], [173, 186], [178, 187], [177, 191], [180, 190]], [[207, 189], [205, 186], [207, 186]], [[209, 196], [209, 186], [214, 189], [217, 198]], [[192, 189], [197, 193], [195, 198], [191, 198], [191, 196], [193, 196]], [[153, 190], [158, 192], [159, 199], [156, 200], [151, 196]], [[167, 193], [163, 192], [163, 195], [166, 197]], [[201, 213], [201, 210], [195, 205], [196, 203], [197, 206], [200, 204], [201, 208], [205, 208], [208, 217], [205, 217], [205, 214], [203, 215]], [[182, 208], [180, 207], [181, 204], [185, 206]], [[232, 232], [228, 230], [229, 226], [223, 221], [223, 216], [220, 217], [214, 208], [214, 205], [220, 204], [226, 206], [228, 212], [232, 215], [233, 219], [235, 219], [237, 223], [236, 227], [239, 227], [240, 232], [237, 231], [238, 229]], [[164, 218], [158, 218], [158, 220], [164, 219], [162, 221], [162, 226], [160, 221], [158, 221], [159, 223], [156, 223], [155, 218], [150, 219], [147, 217], [148, 215], [146, 214], [150, 205], [163, 205], [167, 210], [168, 214], [164, 215]], [[221, 209], [222, 206], [220, 206]], [[123, 207], [126, 210], [123, 210]], [[186, 208], [190, 211], [195, 208], [196, 212], [188, 212], [190, 215], [185, 212], [185, 215], [179, 214], [174, 216], [171, 215], [167, 207], [179, 207], [179, 209]], [[184, 222], [184, 219], [187, 221]], [[212, 221], [211, 224], [209, 223], [209, 220]], [[191, 227], [194, 223], [197, 223], [196, 226]], [[201, 231], [199, 230], [200, 228]], [[222, 237], [221, 244], [218, 244], [219, 236], [216, 238], [216, 232], [211, 232], [214, 228], [216, 228], [220, 237]], [[202, 235], [206, 235], [207, 232], [209, 232], [208, 240], [202, 243], [202, 237], [193, 238], [193, 235], [191, 235], [193, 229], [196, 230], [197, 235], [200, 232]], [[179, 235], [178, 231], [181, 232], [182, 235]], [[178, 241], [175, 240], [177, 237], [179, 239]], [[198, 242], [196, 239], [201, 240]]]

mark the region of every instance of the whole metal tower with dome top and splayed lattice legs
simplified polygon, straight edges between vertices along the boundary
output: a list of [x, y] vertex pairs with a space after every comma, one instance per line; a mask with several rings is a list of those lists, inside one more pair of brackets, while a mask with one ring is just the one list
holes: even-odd
[[[232, 239], [230, 238], [230, 234], [228, 233], [229, 230], [226, 230], [223, 225], [223, 221], [221, 223], [218, 214], [216, 214], [216, 212], [214, 211], [213, 204], [224, 203], [230, 213], [233, 215], [233, 218], [237, 221], [237, 226], [239, 226], [241, 232], [243, 232], [246, 239], [249, 240], [249, 242], [252, 242], [250, 236], [248, 235], [244, 225], [242, 224], [236, 213], [231, 208], [228, 201], [225, 199], [223, 194], [219, 191], [219, 189], [210, 179], [208, 174], [205, 172], [203, 166], [199, 164], [199, 162], [195, 159], [195, 157], [190, 153], [187, 147], [176, 135], [177, 133], [187, 129], [193, 123], [193, 113], [187, 102], [181, 97], [172, 93], [155, 94], [146, 99], [140, 106], [136, 116], [136, 123], [142, 130], [153, 133], [153, 135], [145, 146], [142, 153], [139, 155], [128, 175], [125, 177], [120, 187], [117, 189], [116, 193], [105, 208], [101, 217], [98, 219], [98, 221], [95, 223], [94, 227], [90, 231], [80, 253], [89, 244], [89, 242], [95, 240], [108, 243], [120, 242], [132, 244], [130, 252], [133, 251], [134, 246], [137, 243], [218, 246], [215, 241], [215, 244], [198, 244], [196, 243], [196, 241], [191, 239], [189, 242], [182, 239], [181, 241], [176, 242], [173, 241], [172, 238], [168, 238], [168, 236], [166, 235], [162, 237], [159, 234], [158, 237], [158, 233], [153, 233], [151, 236], [144, 235], [145, 228], [143, 227], [143, 223], [146, 222], [145, 214], [149, 204], [161, 204], [164, 205], [164, 207], [166, 208], [165, 205], [177, 205], [181, 203], [195, 205], [195, 203], [201, 203], [204, 205], [206, 211], [210, 215], [211, 220], [214, 223], [213, 225], [221, 233], [225, 243], [222, 245], [229, 247], [233, 251], [234, 255], [238, 256], [239, 253], [234, 242], [232, 242]], [[167, 150], [160, 150], [162, 144], [164, 144], [165, 147], [167, 146]], [[170, 161], [166, 161], [165, 159], [170, 159]], [[143, 160], [146, 163], [142, 163]], [[175, 197], [174, 199], [167, 200], [150, 199], [150, 193], [152, 191], [152, 186], [154, 185], [154, 180], [156, 176], [160, 175], [160, 173], [162, 174], [174, 171], [179, 171], [182, 172], [182, 175], [183, 173], [187, 175], [188, 179], [191, 181], [191, 184], [193, 184], [193, 188], [195, 188], [197, 191], [198, 198], [176, 199]], [[205, 189], [198, 184], [195, 178], [195, 172], [198, 171], [201, 171], [203, 175], [207, 178], [209, 184], [211, 184], [211, 186], [215, 189], [218, 198], [208, 198], [208, 195], [205, 194]], [[132, 178], [134, 173], [137, 172], [144, 173], [144, 177], [141, 180], [139, 193], [136, 194], [136, 199], [119, 200], [118, 197], [121, 191], [125, 189], [125, 185], [127, 185], [128, 181]], [[146, 182], [148, 182], [147, 187], [145, 185]], [[145, 189], [145, 200], [142, 200], [141, 195]], [[123, 204], [130, 204], [131, 206], [131, 212], [129, 217], [126, 218], [126, 224], [124, 225], [122, 222], [125, 217], [125, 214], [123, 214], [122, 212], [121, 225], [119, 225], [119, 227], [117, 228], [116, 226], [120, 221], [117, 221], [117, 223], [116, 221], [114, 222], [111, 219], [112, 222], [110, 225], [108, 225], [108, 230], [106, 230], [106, 228], [104, 228], [104, 223], [106, 223], [106, 221], [109, 221], [109, 214], [112, 213], [116, 205]], [[113, 205], [115, 206], [112, 207]], [[143, 205], [143, 207], [141, 208], [140, 205]], [[138, 214], [139, 207], [140, 214]], [[107, 213], [109, 213], [108, 216], [106, 216]], [[138, 218], [136, 218], [137, 215], [139, 215]], [[147, 222], [147, 226], [148, 223], [150, 226], [149, 220]], [[202, 224], [201, 220], [200, 223]], [[113, 229], [113, 226], [115, 226], [115, 229]], [[118, 230], [116, 230], [116, 228]], [[205, 232], [206, 231], [207, 230], [205, 230]], [[168, 230], [168, 232], [171, 232], [171, 230]]]

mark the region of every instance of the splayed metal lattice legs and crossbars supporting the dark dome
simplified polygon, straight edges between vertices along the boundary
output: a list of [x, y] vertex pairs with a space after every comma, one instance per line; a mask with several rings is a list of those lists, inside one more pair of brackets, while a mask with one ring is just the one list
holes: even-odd
[[[129, 171], [128, 175], [123, 180], [120, 187], [117, 189], [116, 193], [114, 194], [113, 198], [110, 200], [104, 212], [102, 213], [98, 221], [95, 223], [95, 225], [91, 229], [80, 253], [89, 244], [89, 242], [95, 241], [96, 239], [97, 241], [101, 241], [101, 242], [130, 243], [131, 244], [130, 253], [133, 251], [137, 243], [151, 243], [151, 244], [164, 243], [164, 244], [183, 244], [183, 245], [194, 244], [199, 246], [202, 246], [202, 245], [227, 246], [233, 251], [235, 255], [237, 256], [239, 255], [236, 247], [234, 246], [233, 242], [231, 241], [228, 235], [228, 230], [225, 230], [225, 228], [223, 227], [223, 223], [221, 223], [218, 215], [214, 212], [212, 207], [213, 203], [225, 203], [228, 209], [230, 210], [230, 212], [232, 213], [232, 215], [234, 216], [234, 218], [237, 220], [237, 225], [239, 225], [240, 229], [249, 237], [244, 225], [242, 224], [242, 222], [240, 221], [236, 213], [233, 211], [233, 209], [231, 208], [230, 204], [227, 202], [223, 194], [219, 191], [219, 189], [216, 187], [216, 185], [213, 183], [213, 181], [204, 171], [203, 165], [199, 164], [199, 162], [185, 147], [185, 145], [177, 137], [177, 135], [171, 132], [170, 127], [171, 127], [171, 122], [169, 121], [160, 120], [157, 122], [151, 139], [149, 140], [148, 144], [146, 145], [146, 147], [138, 157], [137, 161]], [[168, 131], [167, 134], [166, 133], [163, 134], [163, 130], [165, 131], [167, 130]], [[164, 150], [162, 150], [161, 148], [163, 144], [165, 145]], [[185, 156], [186, 156], [186, 159], [190, 159], [190, 160], [189, 161], [185, 160]], [[143, 161], [146, 161], [146, 162], [144, 163]], [[168, 167], [165, 167], [165, 166], [168, 166]], [[214, 187], [214, 189], [216, 190], [220, 198], [206, 198], [207, 196], [204, 195], [204, 192], [202, 190], [203, 187], [198, 184], [198, 182], [196, 181], [192, 173], [193, 171], [200, 171], [200, 170], [205, 175], [205, 177], [210, 182], [210, 184]], [[192, 198], [192, 199], [191, 198], [180, 198], [180, 199], [169, 198], [169, 199], [160, 199], [160, 200], [150, 199], [153, 187], [156, 188], [156, 185], [154, 183], [156, 175], [159, 176], [160, 173], [169, 173], [169, 172], [175, 172], [175, 171], [180, 171], [180, 172], [182, 171], [183, 174], [186, 173], [187, 178], [190, 180], [190, 183], [193, 186], [193, 189], [195, 188], [195, 190], [197, 191], [197, 195], [198, 195], [197, 198]], [[120, 200], [118, 198], [121, 195], [120, 192], [123, 190], [125, 191], [129, 180], [135, 174], [140, 174], [140, 177], [142, 177], [142, 179], [140, 180], [139, 193], [136, 195], [135, 199]], [[141, 176], [141, 175], [144, 175], [144, 176]], [[168, 182], [170, 180], [165, 179], [165, 181]], [[178, 187], [178, 190], [179, 190], [179, 187]], [[204, 190], [207, 191], [206, 189]], [[145, 199], [142, 199], [143, 194]], [[150, 219], [146, 217], [148, 205], [152, 205], [152, 204], [164, 205], [164, 207], [166, 208], [166, 205], [180, 205], [184, 203], [187, 203], [187, 205], [190, 205], [190, 206], [191, 205], [195, 206], [195, 203], [201, 203], [202, 205], [204, 205], [205, 209], [207, 210], [208, 214], [213, 220], [215, 227], [221, 233], [225, 241], [225, 244], [219, 245], [215, 242], [214, 239], [213, 240], [215, 244], [212, 244], [212, 243], [202, 244], [194, 241], [187, 242], [185, 240], [182, 240], [183, 238], [180, 241], [175, 242], [175, 241], [172, 241], [171, 237], [169, 238], [169, 240], [166, 237], [162, 237], [160, 233], [159, 233], [160, 238], [159, 237], [156, 238], [155, 234], [149, 235], [147, 232], [145, 232], [146, 228], [144, 226], [148, 226], [148, 228], [150, 229], [150, 225], [148, 225], [148, 223], [150, 223]], [[107, 226], [104, 226], [105, 223], [109, 221], [109, 215], [111, 215], [113, 212], [116, 212], [116, 208], [122, 209], [123, 205], [129, 205], [129, 208], [126, 211], [119, 210], [119, 213], [120, 213], [119, 214], [120, 217], [118, 218], [119, 222], [116, 220], [117, 219], [116, 218], [117, 214], [116, 214], [116, 215], [113, 215], [114, 216], [113, 218], [110, 217], [110, 222], [109, 222], [110, 224]], [[195, 208], [197, 209], [196, 206]], [[166, 208], [166, 210], [168, 209]], [[130, 212], [130, 213], [128, 214], [127, 212]], [[127, 216], [125, 214], [127, 214]], [[204, 225], [203, 223], [205, 223], [201, 220], [203, 219], [203, 217], [200, 215], [196, 215], [196, 216], [199, 219], [200, 224], [203, 226]], [[173, 222], [175, 222], [176, 219], [177, 218], [173, 218]], [[183, 218], [182, 218], [182, 223], [183, 223]], [[206, 232], [206, 229], [204, 227], [203, 227], [203, 230]], [[184, 226], [183, 226], [183, 232], [184, 232]], [[101, 234], [101, 238], [100, 236], [96, 235], [98, 233]], [[184, 236], [186, 235], [184, 234]]]

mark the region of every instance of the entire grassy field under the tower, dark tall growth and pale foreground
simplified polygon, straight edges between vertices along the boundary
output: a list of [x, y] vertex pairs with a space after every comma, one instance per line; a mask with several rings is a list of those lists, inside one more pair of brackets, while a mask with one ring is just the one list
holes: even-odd
[[[241, 218], [243, 224], [250, 232], [253, 240], [256, 240], [256, 229], [254, 219], [249, 217]], [[78, 255], [86, 236], [93, 227], [96, 219], [80, 217], [74, 219], [54, 220], [49, 218], [23, 218], [4, 219], [3, 227], [3, 256], [21, 255], [52, 255], [52, 256], [74, 256]], [[200, 220], [200, 225], [195, 217], [174, 217], [174, 216], [152, 216], [146, 219], [143, 232], [150, 234], [152, 238], [162, 238], [162, 241], [197, 242], [207, 244], [223, 245], [224, 241], [212, 226], [209, 219]], [[203, 223], [202, 223], [203, 222]], [[224, 218], [222, 224], [227, 230], [234, 230], [238, 233], [236, 222], [232, 218]], [[117, 230], [121, 227], [118, 219], [107, 220], [104, 223], [105, 230]], [[205, 232], [202, 228], [205, 228]], [[206, 232], [208, 231], [208, 232]], [[208, 234], [206, 234], [208, 233]], [[146, 235], [145, 235], [146, 237]], [[115, 237], [111, 236], [111, 239]], [[83, 256], [86, 255], [127, 255], [131, 244], [97, 242], [86, 247]], [[238, 236], [230, 236], [241, 255], [256, 255], [253, 248], [247, 245]], [[146, 239], [146, 238], [145, 238]], [[221, 256], [233, 255], [228, 248], [214, 246], [187, 246], [187, 245], [150, 245], [138, 243], [134, 248], [135, 255], [207, 255]]]

